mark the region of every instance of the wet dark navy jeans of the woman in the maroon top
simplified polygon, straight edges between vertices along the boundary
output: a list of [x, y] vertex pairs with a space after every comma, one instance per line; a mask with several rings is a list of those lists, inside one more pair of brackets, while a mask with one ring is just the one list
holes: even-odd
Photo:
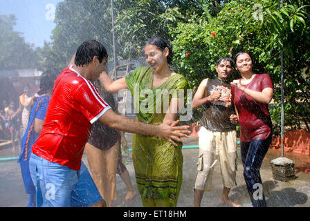
[[271, 137], [272, 135], [269, 135], [266, 140], [255, 139], [240, 144], [244, 180], [253, 207], [266, 207], [259, 169], [271, 144]]

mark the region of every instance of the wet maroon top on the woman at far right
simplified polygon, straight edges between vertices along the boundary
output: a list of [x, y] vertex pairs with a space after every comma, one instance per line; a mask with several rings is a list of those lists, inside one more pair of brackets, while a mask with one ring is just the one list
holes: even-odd
[[[271, 79], [267, 74], [255, 75], [253, 80], [244, 86], [257, 91], [262, 91], [264, 88], [273, 88]], [[266, 140], [272, 128], [268, 104], [255, 101], [255, 99], [246, 95], [235, 86], [231, 86], [231, 94], [239, 113], [240, 141]]]

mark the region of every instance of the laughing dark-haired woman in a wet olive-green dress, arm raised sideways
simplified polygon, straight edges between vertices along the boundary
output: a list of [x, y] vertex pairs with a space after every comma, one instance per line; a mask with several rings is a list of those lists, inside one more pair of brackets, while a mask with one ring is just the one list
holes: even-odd
[[[107, 73], [100, 82], [108, 93], [129, 89], [134, 96], [136, 119], [146, 124], [172, 124], [185, 104], [188, 81], [170, 70], [172, 47], [156, 37], [145, 44], [149, 67], [140, 67], [112, 81]], [[182, 184], [182, 144], [145, 135], [133, 135], [132, 158], [143, 206], [176, 206]]]

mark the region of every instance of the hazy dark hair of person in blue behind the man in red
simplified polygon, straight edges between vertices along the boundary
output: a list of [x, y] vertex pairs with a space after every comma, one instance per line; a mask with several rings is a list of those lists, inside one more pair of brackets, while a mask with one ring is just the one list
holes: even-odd
[[44, 73], [40, 75], [40, 90], [37, 94], [43, 95], [53, 90], [55, 79], [57, 79], [61, 72], [62, 70], [60, 68], [49, 68], [44, 71]]

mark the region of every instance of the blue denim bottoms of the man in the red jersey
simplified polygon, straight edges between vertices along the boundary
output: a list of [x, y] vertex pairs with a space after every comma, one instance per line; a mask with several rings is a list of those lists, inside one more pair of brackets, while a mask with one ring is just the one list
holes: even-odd
[[83, 162], [75, 171], [31, 154], [29, 169], [37, 207], [84, 207], [102, 200]]

